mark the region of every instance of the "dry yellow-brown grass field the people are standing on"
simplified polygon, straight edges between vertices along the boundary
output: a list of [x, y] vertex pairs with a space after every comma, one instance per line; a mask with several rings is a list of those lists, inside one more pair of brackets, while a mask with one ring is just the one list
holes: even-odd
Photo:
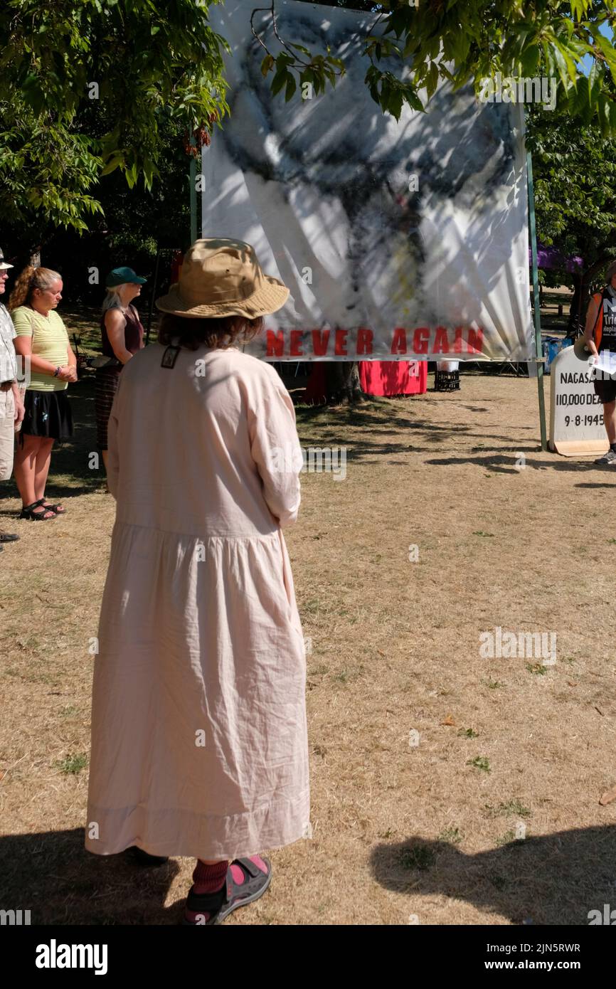
[[[83, 850], [114, 502], [88, 467], [91, 376], [70, 394], [75, 442], [48, 487], [67, 516], [15, 520], [0, 485], [0, 527], [22, 537], [0, 557], [0, 907], [175, 924], [194, 860], [140, 871]], [[303, 445], [347, 448], [343, 481], [304, 476], [287, 530], [312, 838], [273, 852], [271, 890], [227, 923], [586, 924], [616, 906], [616, 802], [599, 805], [616, 784], [616, 473], [540, 451], [527, 379], [463, 375], [459, 393], [298, 422]], [[482, 658], [497, 626], [556, 634], [556, 664]]]

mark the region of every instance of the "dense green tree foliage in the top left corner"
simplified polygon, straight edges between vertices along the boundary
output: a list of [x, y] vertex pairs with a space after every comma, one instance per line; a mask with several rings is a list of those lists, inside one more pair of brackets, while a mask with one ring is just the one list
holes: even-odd
[[3, 0], [0, 209], [5, 220], [87, 227], [96, 180], [116, 168], [146, 188], [159, 132], [227, 112], [208, 2]]

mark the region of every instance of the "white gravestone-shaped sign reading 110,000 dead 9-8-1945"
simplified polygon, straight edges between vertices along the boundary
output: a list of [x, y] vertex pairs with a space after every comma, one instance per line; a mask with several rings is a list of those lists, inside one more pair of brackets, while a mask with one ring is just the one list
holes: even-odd
[[589, 356], [576, 345], [552, 361], [550, 449], [565, 457], [605, 453], [609, 446]]

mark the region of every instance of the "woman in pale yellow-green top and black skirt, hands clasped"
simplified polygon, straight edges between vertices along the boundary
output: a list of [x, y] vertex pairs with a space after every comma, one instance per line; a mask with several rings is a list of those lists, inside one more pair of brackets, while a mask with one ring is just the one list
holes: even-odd
[[57, 271], [30, 266], [18, 278], [9, 300], [17, 333], [15, 350], [30, 358], [31, 370], [15, 480], [23, 502], [20, 518], [36, 521], [64, 514], [61, 504], [47, 502], [44, 488], [53, 441], [73, 434], [66, 389], [69, 381], [77, 381], [77, 358], [55, 312], [61, 298], [62, 279]]

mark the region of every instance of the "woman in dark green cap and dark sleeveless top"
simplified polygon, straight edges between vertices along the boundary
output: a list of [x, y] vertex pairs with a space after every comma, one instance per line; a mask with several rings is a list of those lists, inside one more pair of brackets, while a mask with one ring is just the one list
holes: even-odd
[[107, 295], [101, 316], [102, 350], [109, 363], [96, 370], [96, 437], [107, 470], [107, 423], [114, 403], [120, 373], [132, 355], [143, 346], [143, 326], [132, 300], [146, 279], [132, 268], [114, 268], [106, 280]]

